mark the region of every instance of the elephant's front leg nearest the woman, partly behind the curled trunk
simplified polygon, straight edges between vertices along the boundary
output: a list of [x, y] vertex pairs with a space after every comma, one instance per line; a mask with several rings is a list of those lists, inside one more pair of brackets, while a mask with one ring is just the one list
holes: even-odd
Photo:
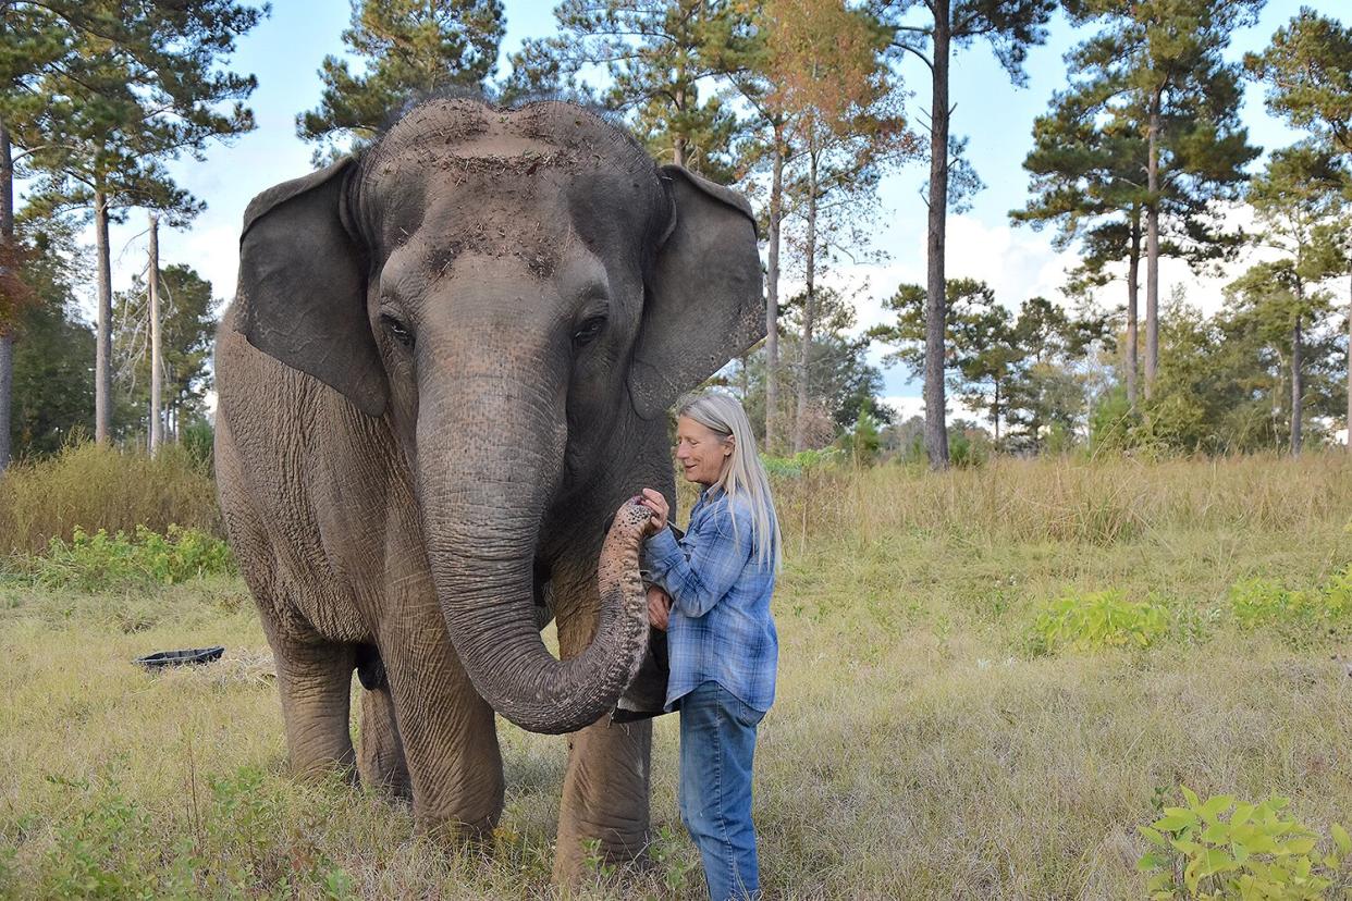
[[[599, 598], [594, 578], [573, 586], [554, 581], [558, 647], [580, 654], [596, 629]], [[612, 860], [631, 860], [649, 842], [653, 727], [650, 720], [612, 724], [604, 717], [568, 736], [568, 773], [558, 812], [554, 881], [577, 882], [588, 846], [599, 842]]]

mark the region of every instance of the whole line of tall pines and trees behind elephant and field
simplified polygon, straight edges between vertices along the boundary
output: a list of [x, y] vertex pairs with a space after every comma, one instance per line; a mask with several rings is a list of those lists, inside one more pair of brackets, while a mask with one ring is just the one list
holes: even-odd
[[[765, 238], [769, 334], [722, 380], [773, 453], [873, 440], [861, 434], [884, 448], [898, 442], [903, 424], [888, 421], [869, 363], [879, 343], [923, 385], [922, 427], [909, 426], [907, 442], [918, 436], [930, 466], [949, 463], [950, 440], [973, 438], [1007, 453], [1072, 443], [1299, 453], [1352, 409], [1352, 32], [1302, 9], [1261, 53], [1226, 62], [1233, 32], [1260, 7], [560, 0], [554, 32], [526, 41], [498, 78], [500, 0], [352, 0], [346, 53], [320, 62], [320, 96], [297, 112], [296, 134], [318, 165], [360, 150], [429, 93], [562, 95], [612, 109], [658, 161], [744, 189]], [[1052, 227], [1080, 265], [1064, 303], [995, 297], [945, 267], [946, 216], [982, 188], [953, 130], [950, 65], [984, 43], [1023, 85], [1026, 55], [1057, 9], [1090, 36], [1067, 54], [1068, 84], [1032, 124], [1029, 200], [1010, 215]], [[201, 158], [210, 142], [253, 127], [243, 101], [254, 78], [222, 63], [265, 14], [231, 0], [0, 0], [0, 432], [22, 453], [74, 426], [101, 440], [154, 424], [173, 436], [203, 415], [211, 286], [157, 263], [115, 297], [107, 223], [143, 209], [183, 227], [200, 211], [164, 163]], [[1257, 172], [1260, 149], [1238, 118], [1245, 78], [1306, 134]], [[910, 109], [913, 95], [927, 103]], [[910, 165], [927, 169], [925, 284], [884, 286], [895, 321], [860, 332], [842, 261], [892, 250], [872, 238], [877, 186]], [[18, 216], [16, 177], [28, 185]], [[1242, 204], [1253, 222], [1238, 227]], [[72, 313], [87, 269], [72, 235], [91, 219], [92, 361], [88, 327]], [[1161, 300], [1163, 258], [1205, 273], [1255, 247], [1261, 262], [1214, 316], [1186, 296]], [[1091, 299], [1114, 282], [1121, 303], [1096, 308]], [[154, 365], [151, 286], [165, 342]], [[37, 351], [58, 346], [59, 365]], [[47, 369], [31, 369], [39, 363]], [[59, 400], [30, 400], [61, 380], [72, 390]], [[956, 431], [952, 398], [975, 416]]]

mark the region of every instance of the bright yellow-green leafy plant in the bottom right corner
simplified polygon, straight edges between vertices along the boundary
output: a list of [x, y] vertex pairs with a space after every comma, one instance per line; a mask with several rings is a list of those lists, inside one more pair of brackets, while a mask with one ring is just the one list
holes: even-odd
[[1218, 794], [1202, 801], [1186, 785], [1179, 789], [1183, 806], [1165, 806], [1164, 816], [1140, 827], [1152, 848], [1136, 866], [1151, 874], [1153, 901], [1314, 901], [1325, 897], [1352, 856], [1352, 838], [1336, 823], [1336, 851], [1320, 855], [1320, 836], [1283, 813], [1286, 798], [1248, 804]]

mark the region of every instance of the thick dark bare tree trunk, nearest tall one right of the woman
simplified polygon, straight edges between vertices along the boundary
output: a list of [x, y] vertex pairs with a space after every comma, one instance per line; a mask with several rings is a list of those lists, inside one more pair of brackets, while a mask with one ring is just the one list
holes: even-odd
[[948, 62], [950, 53], [949, 0], [933, 0], [934, 59], [930, 101], [930, 184], [927, 278], [925, 290], [925, 450], [930, 469], [948, 466], [948, 421], [944, 398], [944, 334], [948, 282], [944, 274], [944, 238], [948, 226]]

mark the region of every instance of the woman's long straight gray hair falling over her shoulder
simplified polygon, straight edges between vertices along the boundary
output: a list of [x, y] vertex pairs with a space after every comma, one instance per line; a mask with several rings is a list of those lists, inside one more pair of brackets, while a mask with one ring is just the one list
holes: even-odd
[[[757, 559], [764, 566], [771, 563], [775, 571], [780, 566], [779, 519], [775, 516], [775, 500], [769, 496], [769, 478], [765, 466], [756, 453], [756, 435], [741, 403], [718, 392], [706, 394], [685, 394], [676, 401], [676, 416], [690, 416], [704, 428], [715, 432], [725, 444], [733, 439], [733, 453], [723, 466], [723, 474], [714, 482], [727, 493], [727, 500], [746, 498], [752, 508], [752, 544], [757, 548]], [[737, 532], [737, 513], [733, 515], [733, 532]]]

